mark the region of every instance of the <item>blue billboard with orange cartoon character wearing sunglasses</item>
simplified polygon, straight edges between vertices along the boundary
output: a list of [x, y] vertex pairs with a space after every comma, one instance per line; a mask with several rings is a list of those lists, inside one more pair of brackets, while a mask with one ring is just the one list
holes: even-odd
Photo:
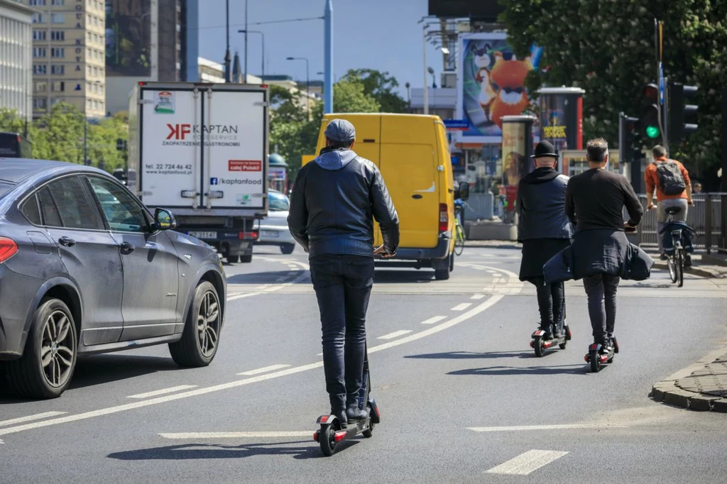
[[499, 143], [502, 116], [518, 116], [529, 107], [525, 78], [537, 69], [542, 48], [518, 59], [505, 33], [467, 33], [459, 37], [457, 118], [470, 127], [458, 142]]

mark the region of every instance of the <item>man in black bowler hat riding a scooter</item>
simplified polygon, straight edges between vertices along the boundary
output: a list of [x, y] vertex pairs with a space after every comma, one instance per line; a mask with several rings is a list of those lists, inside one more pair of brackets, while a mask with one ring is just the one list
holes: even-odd
[[558, 173], [558, 153], [541, 141], [531, 156], [535, 170], [518, 184], [518, 242], [523, 244], [520, 280], [534, 284], [545, 339], [560, 338], [566, 296], [563, 281], [546, 284], [543, 266], [571, 243], [573, 231], [566, 216], [568, 177]]

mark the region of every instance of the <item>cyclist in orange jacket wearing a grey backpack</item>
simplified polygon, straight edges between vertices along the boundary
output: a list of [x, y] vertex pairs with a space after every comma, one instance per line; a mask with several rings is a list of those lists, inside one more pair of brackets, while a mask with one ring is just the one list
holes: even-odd
[[[656, 207], [656, 240], [659, 242], [659, 257], [667, 259], [664, 253], [662, 229], [667, 225], [667, 209], [678, 207], [680, 211], [674, 215], [675, 222], [686, 223], [687, 205], [694, 205], [691, 199], [691, 182], [689, 172], [679, 161], [667, 158], [667, 150], [656, 145], [651, 150], [654, 163], [646, 167], [644, 181], [646, 182], [646, 209]], [[654, 190], [656, 190], [656, 206], [654, 205]], [[688, 258], [688, 263], [691, 259]]]

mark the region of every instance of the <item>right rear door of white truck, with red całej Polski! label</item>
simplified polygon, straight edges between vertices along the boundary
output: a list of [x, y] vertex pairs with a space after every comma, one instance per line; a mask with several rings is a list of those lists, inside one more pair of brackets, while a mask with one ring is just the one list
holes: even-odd
[[204, 92], [204, 205], [265, 209], [268, 99], [265, 89]]

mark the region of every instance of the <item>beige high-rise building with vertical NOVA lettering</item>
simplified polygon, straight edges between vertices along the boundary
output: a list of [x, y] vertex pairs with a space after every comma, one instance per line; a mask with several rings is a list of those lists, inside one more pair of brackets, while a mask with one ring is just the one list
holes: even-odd
[[88, 118], [105, 110], [103, 0], [24, 0], [33, 9], [33, 116], [57, 102]]

